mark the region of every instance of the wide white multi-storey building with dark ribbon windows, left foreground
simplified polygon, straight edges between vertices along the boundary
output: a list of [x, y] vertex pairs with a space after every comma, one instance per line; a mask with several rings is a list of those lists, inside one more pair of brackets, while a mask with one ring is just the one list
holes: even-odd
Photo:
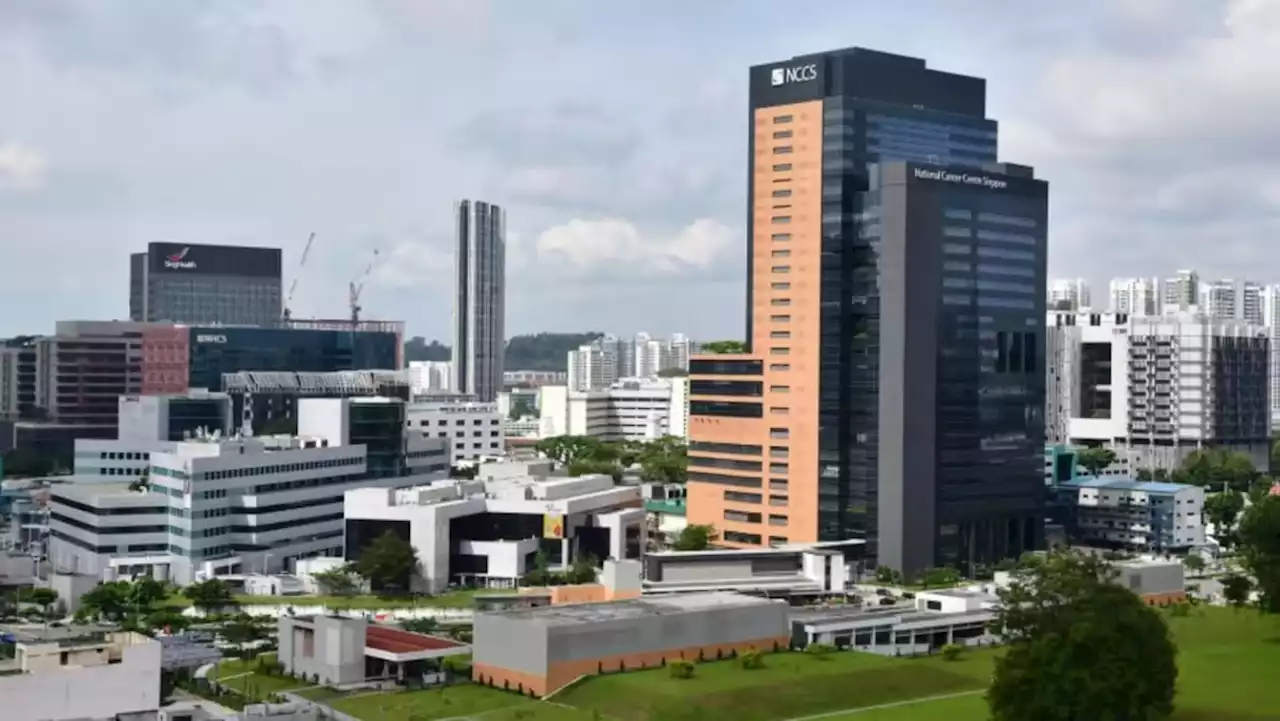
[[102, 579], [178, 584], [276, 574], [343, 552], [343, 493], [445, 478], [443, 439], [404, 430], [388, 398], [303, 398], [298, 437], [184, 441], [151, 455], [150, 489], [69, 484], [50, 496], [50, 561]]

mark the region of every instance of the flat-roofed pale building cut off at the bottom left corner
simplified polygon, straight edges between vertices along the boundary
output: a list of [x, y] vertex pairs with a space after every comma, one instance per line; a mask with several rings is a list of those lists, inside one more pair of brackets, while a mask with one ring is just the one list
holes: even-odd
[[50, 629], [19, 635], [0, 662], [5, 721], [81, 721], [160, 708], [163, 648], [132, 631]]

